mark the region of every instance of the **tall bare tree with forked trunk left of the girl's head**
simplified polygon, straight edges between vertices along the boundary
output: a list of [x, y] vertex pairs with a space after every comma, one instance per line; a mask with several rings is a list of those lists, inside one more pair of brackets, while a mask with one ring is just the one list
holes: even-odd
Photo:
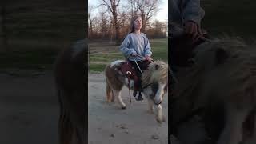
[[113, 21], [114, 21], [114, 29], [115, 29], [115, 39], [117, 43], [120, 42], [120, 32], [119, 32], [119, 26], [118, 26], [118, 6], [120, 0], [102, 0], [104, 3], [103, 6], [106, 6], [108, 10], [110, 10]]

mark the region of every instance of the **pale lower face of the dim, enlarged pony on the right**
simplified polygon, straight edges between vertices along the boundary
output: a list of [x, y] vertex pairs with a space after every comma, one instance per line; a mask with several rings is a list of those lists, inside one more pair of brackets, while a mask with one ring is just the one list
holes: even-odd
[[226, 116], [226, 126], [218, 138], [218, 144], [239, 144], [242, 142], [242, 122], [246, 119], [248, 109], [229, 107]]

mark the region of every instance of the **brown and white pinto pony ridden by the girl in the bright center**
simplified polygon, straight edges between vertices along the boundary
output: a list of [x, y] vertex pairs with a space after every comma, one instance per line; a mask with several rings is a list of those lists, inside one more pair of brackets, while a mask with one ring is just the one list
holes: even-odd
[[[108, 102], [114, 102], [117, 98], [122, 109], [126, 108], [126, 104], [122, 102], [121, 90], [122, 87], [130, 86], [134, 88], [134, 81], [128, 81], [128, 78], [121, 72], [121, 66], [125, 61], [114, 61], [106, 66], [106, 99]], [[149, 111], [153, 114], [156, 110], [156, 119], [158, 122], [163, 122], [162, 116], [162, 98], [167, 92], [168, 86], [168, 64], [162, 61], [155, 61], [149, 64], [148, 70], [142, 74], [142, 93], [148, 100]]]

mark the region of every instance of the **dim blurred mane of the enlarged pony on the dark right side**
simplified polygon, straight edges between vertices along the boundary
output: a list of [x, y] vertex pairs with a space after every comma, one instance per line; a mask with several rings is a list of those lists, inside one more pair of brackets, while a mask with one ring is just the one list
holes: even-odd
[[[202, 78], [214, 77], [215, 81], [219, 81], [219, 76], [223, 74], [229, 77], [226, 81], [234, 82], [231, 87], [223, 86], [223, 89], [244, 93], [245, 89], [256, 85], [255, 48], [256, 46], [247, 45], [241, 38], [224, 37], [203, 43], [196, 48], [194, 66], [179, 74], [181, 76], [174, 91], [175, 95], [193, 95], [194, 90], [205, 81]], [[214, 81], [214, 78], [211, 78], [211, 81]]]

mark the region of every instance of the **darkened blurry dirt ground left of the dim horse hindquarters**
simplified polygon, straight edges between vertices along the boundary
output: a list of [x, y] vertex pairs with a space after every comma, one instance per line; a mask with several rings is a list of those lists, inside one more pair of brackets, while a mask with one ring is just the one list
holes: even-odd
[[0, 143], [58, 143], [52, 74], [15, 75], [0, 74]]

